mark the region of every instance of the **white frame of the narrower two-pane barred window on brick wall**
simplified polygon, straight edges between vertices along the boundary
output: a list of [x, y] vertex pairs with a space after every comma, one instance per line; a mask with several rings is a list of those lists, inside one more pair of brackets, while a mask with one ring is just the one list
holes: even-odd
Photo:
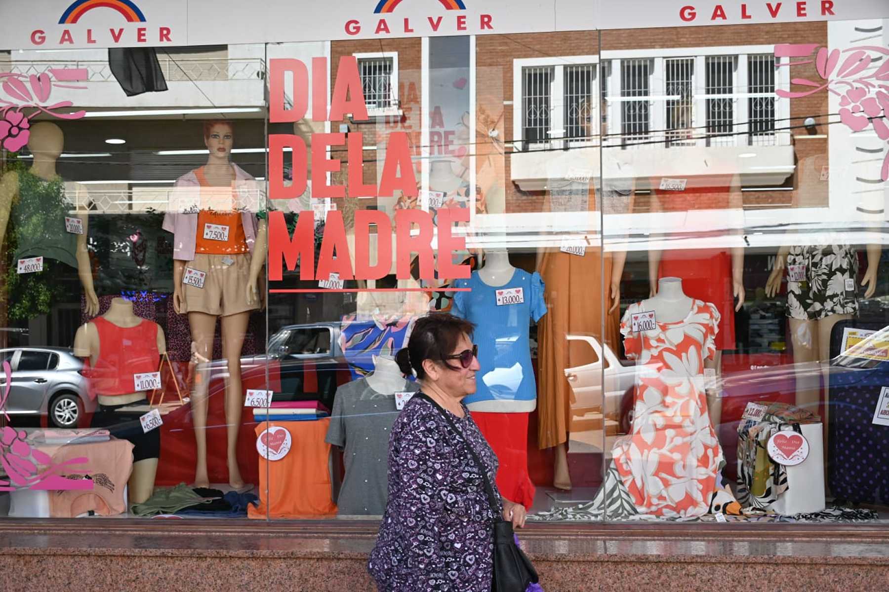
[[[525, 128], [525, 114], [523, 112], [522, 84], [525, 80], [523, 71], [525, 67], [554, 67], [552, 83], [549, 87], [549, 142], [528, 143], [528, 148], [558, 149], [565, 147], [565, 66], [593, 66], [596, 68], [596, 97], [602, 81], [602, 70], [599, 67], [598, 56], [559, 56], [552, 58], [523, 58], [512, 60], [512, 137], [516, 139], [513, 150], [520, 152], [525, 150], [525, 138], [522, 131]], [[599, 117], [600, 101], [593, 101], [593, 121], [601, 121]], [[595, 133], [588, 139], [572, 139], [569, 146], [593, 146], [598, 144], [599, 134]]]

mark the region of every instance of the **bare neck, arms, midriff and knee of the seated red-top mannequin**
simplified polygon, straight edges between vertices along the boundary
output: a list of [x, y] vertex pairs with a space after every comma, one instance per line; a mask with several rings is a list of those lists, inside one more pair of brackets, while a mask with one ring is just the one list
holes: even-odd
[[[108, 308], [108, 312], [102, 315], [102, 318], [108, 320], [117, 327], [132, 328], [138, 326], [144, 321], [141, 317], [137, 317], [132, 312], [132, 302], [124, 298], [114, 298]], [[166, 352], [166, 337], [164, 329], [157, 327], [157, 351], [160, 354]], [[92, 366], [99, 359], [100, 343], [99, 331], [92, 323], [85, 323], [77, 329], [74, 335], [74, 353], [80, 358], [89, 358]], [[121, 368], [124, 371], [124, 368]], [[124, 395], [116, 395], [107, 397], [99, 395], [100, 405], [126, 405], [146, 399], [145, 391], [131, 392]], [[157, 472], [157, 459], [147, 458], [132, 465], [132, 475], [130, 476], [129, 498], [131, 503], [141, 503], [151, 497], [151, 493], [155, 487], [155, 475]]]

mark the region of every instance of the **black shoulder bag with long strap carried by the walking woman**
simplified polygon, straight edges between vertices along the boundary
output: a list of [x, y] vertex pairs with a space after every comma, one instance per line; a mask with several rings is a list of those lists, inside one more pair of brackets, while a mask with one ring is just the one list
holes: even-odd
[[494, 495], [491, 482], [488, 480], [488, 471], [485, 470], [485, 463], [478, 458], [476, 451], [469, 444], [469, 440], [463, 438], [461, 431], [457, 429], [453, 419], [451, 419], [451, 416], [448, 415], [445, 409], [424, 393], [417, 393], [415, 397], [417, 396], [428, 400], [445, 417], [445, 421], [448, 422], [457, 437], [461, 438], [472, 459], [478, 465], [478, 469], [481, 470], [482, 479], [485, 481], [485, 491], [488, 494], [488, 502], [491, 504], [491, 511], [494, 516], [492, 592], [525, 592], [525, 588], [528, 588], [529, 584], [537, 582], [537, 570], [534, 569], [531, 560], [528, 559], [522, 549], [518, 548], [512, 532], [512, 522], [500, 519], [500, 503], [497, 500], [497, 496]]

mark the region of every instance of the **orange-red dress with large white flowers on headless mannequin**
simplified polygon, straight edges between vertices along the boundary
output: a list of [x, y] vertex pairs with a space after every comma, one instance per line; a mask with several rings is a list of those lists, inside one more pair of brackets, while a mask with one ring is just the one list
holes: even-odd
[[631, 304], [621, 321], [629, 358], [637, 359], [636, 400], [629, 436], [614, 443], [623, 485], [641, 514], [692, 517], [708, 513], [724, 464], [710, 425], [703, 362], [716, 351], [719, 312], [695, 300], [684, 320], [632, 330]]

